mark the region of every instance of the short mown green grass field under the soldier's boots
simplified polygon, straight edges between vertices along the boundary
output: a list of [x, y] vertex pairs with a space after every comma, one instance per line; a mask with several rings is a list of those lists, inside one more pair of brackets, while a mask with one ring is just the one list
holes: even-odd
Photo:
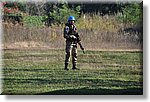
[[2, 94], [143, 94], [141, 51], [78, 51], [79, 71], [64, 69], [63, 49], [4, 50]]

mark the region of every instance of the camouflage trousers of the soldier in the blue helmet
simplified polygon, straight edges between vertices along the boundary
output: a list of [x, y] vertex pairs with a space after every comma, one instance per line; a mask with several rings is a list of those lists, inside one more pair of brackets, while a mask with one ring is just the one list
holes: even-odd
[[69, 63], [71, 55], [72, 55], [72, 64], [76, 65], [76, 63], [77, 63], [77, 43], [73, 43], [71, 41], [66, 41], [65, 63]]

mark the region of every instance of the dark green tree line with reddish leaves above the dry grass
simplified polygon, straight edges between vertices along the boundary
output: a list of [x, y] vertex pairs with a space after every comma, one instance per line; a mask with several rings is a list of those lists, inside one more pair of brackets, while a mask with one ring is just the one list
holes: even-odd
[[46, 26], [63, 24], [69, 15], [76, 19], [82, 14], [117, 15], [125, 23], [141, 24], [143, 17], [143, 2], [113, 2], [113, 3], [69, 3], [61, 2], [2, 2], [3, 20], [13, 22], [44, 22]]

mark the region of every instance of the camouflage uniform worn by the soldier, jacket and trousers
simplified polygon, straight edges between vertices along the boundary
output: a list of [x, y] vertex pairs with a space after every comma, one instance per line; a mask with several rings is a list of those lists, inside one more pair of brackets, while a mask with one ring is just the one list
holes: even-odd
[[65, 67], [67, 67], [70, 56], [72, 55], [72, 64], [73, 68], [76, 68], [77, 64], [77, 38], [75, 37], [77, 34], [77, 28], [75, 25], [71, 25], [66, 23], [64, 28], [64, 38], [66, 39], [66, 57], [65, 57]]

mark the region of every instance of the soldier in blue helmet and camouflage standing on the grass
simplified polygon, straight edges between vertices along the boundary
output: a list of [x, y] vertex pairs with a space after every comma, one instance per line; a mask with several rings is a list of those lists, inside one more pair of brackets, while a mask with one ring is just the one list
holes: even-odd
[[77, 28], [75, 26], [75, 17], [69, 16], [68, 22], [65, 24], [64, 28], [64, 38], [66, 39], [66, 57], [65, 57], [65, 68], [68, 69], [68, 64], [70, 61], [70, 56], [72, 55], [72, 69], [79, 70], [77, 68], [77, 43], [80, 42], [79, 35], [77, 33]]

